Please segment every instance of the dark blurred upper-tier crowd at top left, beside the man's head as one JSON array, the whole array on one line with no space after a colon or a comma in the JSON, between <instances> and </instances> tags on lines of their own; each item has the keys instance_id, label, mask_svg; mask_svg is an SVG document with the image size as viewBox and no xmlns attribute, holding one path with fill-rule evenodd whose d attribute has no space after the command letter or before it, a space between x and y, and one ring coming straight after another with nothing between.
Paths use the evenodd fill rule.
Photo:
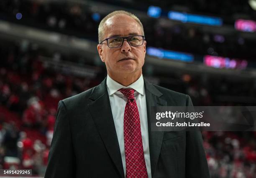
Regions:
<instances>
[{"instance_id":1,"label":"dark blurred upper-tier crowd at top left, beside the man's head","mask_svg":"<svg viewBox=\"0 0 256 178\"><path fill-rule=\"evenodd\" d=\"M20 20L17 20L17 13L22 14ZM100 14L92 14L87 6L69 1L0 1L0 18L3 20L95 40Z\"/></svg>"}]
</instances>

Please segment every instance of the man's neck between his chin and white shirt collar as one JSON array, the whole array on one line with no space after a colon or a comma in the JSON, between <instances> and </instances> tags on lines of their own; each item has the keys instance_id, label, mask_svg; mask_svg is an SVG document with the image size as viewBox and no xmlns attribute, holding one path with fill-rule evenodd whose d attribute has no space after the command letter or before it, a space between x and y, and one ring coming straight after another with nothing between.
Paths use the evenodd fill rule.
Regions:
<instances>
[{"instance_id":1,"label":"man's neck between his chin and white shirt collar","mask_svg":"<svg viewBox=\"0 0 256 178\"><path fill-rule=\"evenodd\" d=\"M123 86L129 86L133 84L138 78L140 78L142 74L142 71L136 74L110 74L108 75L111 77L111 79L115 80L119 84L122 84Z\"/></svg>"}]
</instances>

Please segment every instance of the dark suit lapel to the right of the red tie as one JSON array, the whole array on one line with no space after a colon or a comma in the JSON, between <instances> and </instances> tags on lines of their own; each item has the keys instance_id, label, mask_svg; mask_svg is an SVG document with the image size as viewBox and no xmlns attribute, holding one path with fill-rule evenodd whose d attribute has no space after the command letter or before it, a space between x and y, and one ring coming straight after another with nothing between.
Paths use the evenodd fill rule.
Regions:
<instances>
[{"instance_id":1,"label":"dark suit lapel to the right of the red tie","mask_svg":"<svg viewBox=\"0 0 256 178\"><path fill-rule=\"evenodd\" d=\"M146 105L148 115L148 141L150 152L151 175L154 176L156 164L159 158L164 132L151 132L151 106L166 106L166 101L160 97L163 95L152 84L144 79L146 91Z\"/></svg>"}]
</instances>

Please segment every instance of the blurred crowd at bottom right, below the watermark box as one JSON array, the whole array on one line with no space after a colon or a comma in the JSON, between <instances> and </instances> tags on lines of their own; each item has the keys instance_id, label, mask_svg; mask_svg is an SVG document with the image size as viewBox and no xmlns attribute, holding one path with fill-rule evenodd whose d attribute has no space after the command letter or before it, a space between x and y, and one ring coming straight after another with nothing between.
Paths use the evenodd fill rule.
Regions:
<instances>
[{"instance_id":1,"label":"blurred crowd at bottom right, below the watermark box","mask_svg":"<svg viewBox=\"0 0 256 178\"><path fill-rule=\"evenodd\" d=\"M256 132L202 132L211 178L256 178Z\"/></svg>"}]
</instances>

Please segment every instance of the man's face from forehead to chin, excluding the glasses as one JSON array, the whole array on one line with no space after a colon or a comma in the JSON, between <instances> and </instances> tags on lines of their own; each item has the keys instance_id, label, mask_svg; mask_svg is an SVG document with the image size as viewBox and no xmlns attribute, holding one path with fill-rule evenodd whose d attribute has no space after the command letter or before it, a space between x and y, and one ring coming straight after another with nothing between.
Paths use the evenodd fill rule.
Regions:
<instances>
[{"instance_id":1,"label":"man's face from forehead to chin, excluding the glasses","mask_svg":"<svg viewBox=\"0 0 256 178\"><path fill-rule=\"evenodd\" d=\"M105 22L103 39L113 36L142 35L140 25L128 15L115 15ZM125 74L140 74L146 54L146 41L141 46L130 46L125 40L119 48L109 48L107 41L97 45L100 58L112 77ZM122 60L128 58L126 60Z\"/></svg>"}]
</instances>

